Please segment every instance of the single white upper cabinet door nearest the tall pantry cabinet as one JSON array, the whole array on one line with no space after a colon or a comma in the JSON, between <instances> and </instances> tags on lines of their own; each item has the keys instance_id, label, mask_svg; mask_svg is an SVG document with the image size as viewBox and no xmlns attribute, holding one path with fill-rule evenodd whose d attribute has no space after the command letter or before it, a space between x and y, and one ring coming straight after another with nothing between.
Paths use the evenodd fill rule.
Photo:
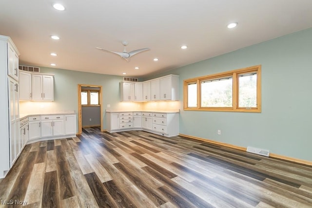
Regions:
<instances>
[{"instance_id":1,"label":"single white upper cabinet door nearest the tall pantry cabinet","mask_svg":"<svg viewBox=\"0 0 312 208\"><path fill-rule=\"evenodd\" d=\"M20 101L31 100L31 74L20 72Z\"/></svg>"}]
</instances>

